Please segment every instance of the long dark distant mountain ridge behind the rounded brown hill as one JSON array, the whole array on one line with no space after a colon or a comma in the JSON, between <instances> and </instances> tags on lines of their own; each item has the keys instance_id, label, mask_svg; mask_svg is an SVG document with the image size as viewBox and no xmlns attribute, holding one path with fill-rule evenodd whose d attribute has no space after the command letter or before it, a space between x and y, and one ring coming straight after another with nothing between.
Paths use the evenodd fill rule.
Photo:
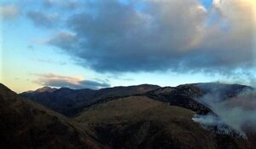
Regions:
<instances>
[{"instance_id":1,"label":"long dark distant mountain ridge behind the rounded brown hill","mask_svg":"<svg viewBox=\"0 0 256 149\"><path fill-rule=\"evenodd\" d=\"M218 89L220 88L220 89ZM234 90L233 90L234 89ZM195 100L205 94L222 92L224 99L239 94L244 89L253 89L246 85L224 83L188 83L177 87L160 87L151 84L120 86L106 89L56 89L54 92L31 92L20 95L37 101L56 112L72 117L90 105L119 99L130 95L147 95L148 97L169 102L174 106L183 106L198 113L211 112L206 106Z\"/></svg>"}]
</instances>

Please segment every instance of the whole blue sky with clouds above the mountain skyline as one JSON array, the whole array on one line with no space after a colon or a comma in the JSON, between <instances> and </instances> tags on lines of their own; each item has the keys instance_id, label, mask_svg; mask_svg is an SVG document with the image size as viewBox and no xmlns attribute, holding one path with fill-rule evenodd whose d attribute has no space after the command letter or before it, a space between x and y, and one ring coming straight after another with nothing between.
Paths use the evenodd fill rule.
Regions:
<instances>
[{"instance_id":1,"label":"whole blue sky with clouds above the mountain skyline","mask_svg":"<svg viewBox=\"0 0 256 149\"><path fill-rule=\"evenodd\" d=\"M0 82L256 83L254 0L2 0Z\"/></svg>"}]
</instances>

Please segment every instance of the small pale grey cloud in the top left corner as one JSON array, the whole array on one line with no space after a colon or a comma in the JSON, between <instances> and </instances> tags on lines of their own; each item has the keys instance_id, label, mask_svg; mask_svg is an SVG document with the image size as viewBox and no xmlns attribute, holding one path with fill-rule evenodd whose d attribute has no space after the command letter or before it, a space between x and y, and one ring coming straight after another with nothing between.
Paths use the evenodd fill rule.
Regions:
<instances>
[{"instance_id":1,"label":"small pale grey cloud in the top left corner","mask_svg":"<svg viewBox=\"0 0 256 149\"><path fill-rule=\"evenodd\" d=\"M19 15L19 9L15 5L0 6L0 19L11 20Z\"/></svg>"}]
</instances>

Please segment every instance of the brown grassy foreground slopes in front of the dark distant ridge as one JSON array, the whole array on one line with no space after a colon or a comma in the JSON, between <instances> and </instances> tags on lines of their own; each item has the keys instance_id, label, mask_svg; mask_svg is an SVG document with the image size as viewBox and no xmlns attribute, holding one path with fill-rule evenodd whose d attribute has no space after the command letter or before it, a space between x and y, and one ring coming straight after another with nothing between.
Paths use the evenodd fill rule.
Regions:
<instances>
[{"instance_id":1,"label":"brown grassy foreground slopes in front of the dark distant ridge","mask_svg":"<svg viewBox=\"0 0 256 149\"><path fill-rule=\"evenodd\" d=\"M202 129L191 120L194 114L131 96L90 106L72 120L0 83L0 148L248 148L242 140Z\"/></svg>"}]
</instances>

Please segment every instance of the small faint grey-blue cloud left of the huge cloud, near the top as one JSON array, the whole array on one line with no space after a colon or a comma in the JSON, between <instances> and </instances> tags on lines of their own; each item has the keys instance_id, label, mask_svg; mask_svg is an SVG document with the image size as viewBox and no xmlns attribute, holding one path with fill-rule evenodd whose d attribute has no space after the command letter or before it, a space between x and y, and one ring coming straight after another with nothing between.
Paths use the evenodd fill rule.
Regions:
<instances>
[{"instance_id":1,"label":"small faint grey-blue cloud left of the huge cloud, near the top","mask_svg":"<svg viewBox=\"0 0 256 149\"><path fill-rule=\"evenodd\" d=\"M26 16L32 20L35 26L54 27L58 25L58 14L46 14L38 10L31 10Z\"/></svg>"}]
</instances>

